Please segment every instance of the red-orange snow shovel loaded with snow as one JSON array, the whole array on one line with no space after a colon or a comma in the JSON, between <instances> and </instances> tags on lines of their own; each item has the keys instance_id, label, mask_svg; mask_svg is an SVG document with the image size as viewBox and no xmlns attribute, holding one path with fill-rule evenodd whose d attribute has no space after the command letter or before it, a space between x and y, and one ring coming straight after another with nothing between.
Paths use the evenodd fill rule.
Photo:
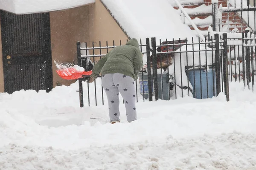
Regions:
<instances>
[{"instance_id":1,"label":"red-orange snow shovel loaded with snow","mask_svg":"<svg viewBox=\"0 0 256 170\"><path fill-rule=\"evenodd\" d=\"M79 79L81 77L90 77L90 75L93 73L93 71L82 71L81 69L77 69L75 67L69 67L69 68L61 68L56 70L57 74L62 79Z\"/></svg>"}]
</instances>

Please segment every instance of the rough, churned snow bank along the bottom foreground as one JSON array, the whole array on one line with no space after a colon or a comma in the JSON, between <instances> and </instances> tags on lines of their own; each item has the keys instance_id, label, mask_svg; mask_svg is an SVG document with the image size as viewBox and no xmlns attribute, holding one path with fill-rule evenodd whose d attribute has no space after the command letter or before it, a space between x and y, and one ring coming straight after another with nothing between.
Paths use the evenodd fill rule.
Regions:
<instances>
[{"instance_id":1,"label":"rough, churned snow bank along the bottom foreground","mask_svg":"<svg viewBox=\"0 0 256 170\"><path fill-rule=\"evenodd\" d=\"M29 170L253 170L255 140L254 135L234 132L179 140L167 136L157 143L145 141L69 151L9 144L2 149L0 164L6 169Z\"/></svg>"}]
</instances>

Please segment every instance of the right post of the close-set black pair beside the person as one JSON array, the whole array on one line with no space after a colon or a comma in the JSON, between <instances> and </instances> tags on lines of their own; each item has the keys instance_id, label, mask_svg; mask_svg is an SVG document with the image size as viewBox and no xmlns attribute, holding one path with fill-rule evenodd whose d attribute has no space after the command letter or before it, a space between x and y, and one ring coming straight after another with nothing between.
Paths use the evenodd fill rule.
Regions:
<instances>
[{"instance_id":1,"label":"right post of the close-set black pair beside the person","mask_svg":"<svg viewBox=\"0 0 256 170\"><path fill-rule=\"evenodd\" d=\"M158 85L157 85L157 45L156 38L151 38L151 47L152 47L152 67L153 67L153 79L154 79L154 96L155 100L159 99L158 97Z\"/></svg>"}]
</instances>

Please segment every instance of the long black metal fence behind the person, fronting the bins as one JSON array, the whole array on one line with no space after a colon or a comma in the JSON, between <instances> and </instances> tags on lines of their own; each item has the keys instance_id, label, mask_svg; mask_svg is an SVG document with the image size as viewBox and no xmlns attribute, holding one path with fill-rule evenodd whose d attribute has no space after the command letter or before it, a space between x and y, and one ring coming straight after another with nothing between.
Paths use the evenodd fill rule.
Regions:
<instances>
[{"instance_id":1,"label":"long black metal fence behind the person, fronting the bins","mask_svg":"<svg viewBox=\"0 0 256 170\"><path fill-rule=\"evenodd\" d=\"M139 79L135 81L137 102L146 99L153 101L153 96L154 100L184 96L204 99L218 96L220 92L224 92L229 100L227 34L223 34L223 37L215 34L204 42L199 38L159 41L146 38L140 39L139 43L144 65ZM85 71L90 70L89 58L95 64L96 60L116 46L114 41L111 46L109 42L105 42L105 45L102 42L95 44L86 43L81 47L80 42L77 42L78 65L83 66ZM122 45L121 41L119 45ZM84 80L86 78L79 79L80 107L84 106L86 92L88 106L92 100L98 105L99 98L104 105L104 91L99 78L90 84ZM87 91L84 91L83 82Z\"/></svg>"}]
</instances>

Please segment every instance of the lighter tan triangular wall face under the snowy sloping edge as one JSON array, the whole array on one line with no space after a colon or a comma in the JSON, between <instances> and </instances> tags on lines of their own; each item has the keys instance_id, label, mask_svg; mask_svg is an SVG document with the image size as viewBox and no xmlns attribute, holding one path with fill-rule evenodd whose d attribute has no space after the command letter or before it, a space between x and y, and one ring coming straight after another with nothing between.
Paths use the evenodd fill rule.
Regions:
<instances>
[{"instance_id":1,"label":"lighter tan triangular wall face under the snowy sloping edge","mask_svg":"<svg viewBox=\"0 0 256 170\"><path fill-rule=\"evenodd\" d=\"M96 0L95 4L93 4L90 23L92 23L90 25L90 30L92 30L90 34L90 46L92 45L92 41L95 46L99 46L99 41L101 41L101 46L106 46L106 41L108 41L109 46L112 46L113 40L115 41L115 45L120 45L120 40L122 44L125 44L128 39L100 0ZM102 50L102 54L104 53L106 51ZM92 54L92 51L90 51L90 54ZM99 54L99 50L96 50L95 54Z\"/></svg>"}]
</instances>

